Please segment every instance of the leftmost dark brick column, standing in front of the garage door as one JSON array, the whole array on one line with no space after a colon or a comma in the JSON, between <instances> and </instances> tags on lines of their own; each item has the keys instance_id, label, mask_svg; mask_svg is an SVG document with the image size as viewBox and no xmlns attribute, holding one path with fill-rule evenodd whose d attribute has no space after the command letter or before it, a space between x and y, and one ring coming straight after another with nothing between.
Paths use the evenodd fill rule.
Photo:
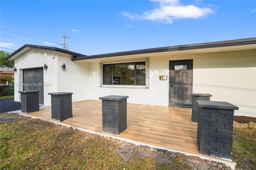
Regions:
<instances>
[{"instance_id":1,"label":"leftmost dark brick column, standing in front of the garage door","mask_svg":"<svg viewBox=\"0 0 256 170\"><path fill-rule=\"evenodd\" d=\"M21 111L24 113L39 111L39 91L18 91L21 96Z\"/></svg>"}]
</instances>

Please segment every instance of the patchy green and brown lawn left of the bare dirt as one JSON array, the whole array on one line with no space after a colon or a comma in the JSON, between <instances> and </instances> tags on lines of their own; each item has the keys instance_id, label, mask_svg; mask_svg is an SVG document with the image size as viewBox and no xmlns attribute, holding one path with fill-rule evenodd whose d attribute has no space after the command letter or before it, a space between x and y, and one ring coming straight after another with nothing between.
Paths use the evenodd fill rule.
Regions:
<instances>
[{"instance_id":1,"label":"patchy green and brown lawn left of the bare dirt","mask_svg":"<svg viewBox=\"0 0 256 170\"><path fill-rule=\"evenodd\" d=\"M172 164L132 152L117 154L120 141L39 119L24 118L0 125L0 170L5 169L185 169L184 158ZM180 160L179 160L180 159ZM169 162L170 162L169 161Z\"/></svg>"}]
</instances>

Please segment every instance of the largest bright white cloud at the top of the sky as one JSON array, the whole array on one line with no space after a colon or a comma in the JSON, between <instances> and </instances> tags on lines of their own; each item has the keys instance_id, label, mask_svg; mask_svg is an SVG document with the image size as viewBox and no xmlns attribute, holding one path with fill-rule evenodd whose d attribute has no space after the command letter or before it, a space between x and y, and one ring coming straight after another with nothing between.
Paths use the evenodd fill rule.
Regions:
<instances>
[{"instance_id":1,"label":"largest bright white cloud at the top of the sky","mask_svg":"<svg viewBox=\"0 0 256 170\"><path fill-rule=\"evenodd\" d=\"M151 0L159 3L159 8L154 8L144 12L142 15L121 12L122 15L130 19L151 20L153 22L163 22L172 24L175 19L201 18L214 11L210 8L199 8L194 5L182 5L179 0Z\"/></svg>"}]
</instances>

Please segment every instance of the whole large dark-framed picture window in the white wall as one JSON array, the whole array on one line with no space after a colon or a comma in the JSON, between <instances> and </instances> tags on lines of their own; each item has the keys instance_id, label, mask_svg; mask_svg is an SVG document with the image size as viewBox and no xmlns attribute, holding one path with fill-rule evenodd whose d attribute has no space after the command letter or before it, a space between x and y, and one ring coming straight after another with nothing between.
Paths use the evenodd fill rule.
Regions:
<instances>
[{"instance_id":1,"label":"whole large dark-framed picture window in the white wall","mask_svg":"<svg viewBox=\"0 0 256 170\"><path fill-rule=\"evenodd\" d=\"M146 85L146 63L103 65L103 85Z\"/></svg>"}]
</instances>

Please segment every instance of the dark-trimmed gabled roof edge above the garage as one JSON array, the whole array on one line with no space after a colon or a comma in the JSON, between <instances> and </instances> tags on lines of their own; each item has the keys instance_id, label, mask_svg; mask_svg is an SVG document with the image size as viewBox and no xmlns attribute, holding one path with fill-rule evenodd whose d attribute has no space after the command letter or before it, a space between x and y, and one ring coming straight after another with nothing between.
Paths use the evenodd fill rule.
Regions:
<instances>
[{"instance_id":1,"label":"dark-trimmed gabled roof edge above the garage","mask_svg":"<svg viewBox=\"0 0 256 170\"><path fill-rule=\"evenodd\" d=\"M57 48L57 47L48 47L48 46L42 46L42 45L25 44L22 47L20 47L19 49L17 49L16 51L14 51L11 55L6 57L6 60L14 61L14 59L16 59L20 55L26 53L30 49L42 49L42 50L56 51L56 52L72 55L73 58L86 56L86 55L82 55L80 53L75 53L75 52L72 52L72 51L67 51L67 50L64 50L64 49Z\"/></svg>"}]
</instances>

